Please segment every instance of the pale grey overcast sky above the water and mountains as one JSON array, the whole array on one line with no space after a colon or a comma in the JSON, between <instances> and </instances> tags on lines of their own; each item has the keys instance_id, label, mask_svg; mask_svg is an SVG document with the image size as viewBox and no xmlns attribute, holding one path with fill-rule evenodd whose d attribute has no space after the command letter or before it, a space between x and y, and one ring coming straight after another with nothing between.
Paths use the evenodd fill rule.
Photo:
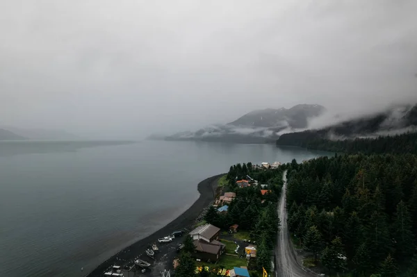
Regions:
<instances>
[{"instance_id":1,"label":"pale grey overcast sky above the water and mountains","mask_svg":"<svg viewBox=\"0 0 417 277\"><path fill-rule=\"evenodd\" d=\"M144 136L410 101L416 15L415 0L0 1L0 124Z\"/></svg>"}]
</instances>

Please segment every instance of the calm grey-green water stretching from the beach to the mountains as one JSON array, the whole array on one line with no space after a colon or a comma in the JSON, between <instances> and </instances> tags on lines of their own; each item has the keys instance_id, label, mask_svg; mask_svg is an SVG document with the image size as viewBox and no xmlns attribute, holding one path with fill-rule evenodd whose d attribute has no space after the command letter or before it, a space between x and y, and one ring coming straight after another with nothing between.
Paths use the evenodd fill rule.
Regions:
<instances>
[{"instance_id":1,"label":"calm grey-green water stretching from the beach to the mountains","mask_svg":"<svg viewBox=\"0 0 417 277\"><path fill-rule=\"evenodd\" d=\"M328 154L270 144L0 142L0 275L84 276L189 208L204 178L237 162Z\"/></svg>"}]
</instances>

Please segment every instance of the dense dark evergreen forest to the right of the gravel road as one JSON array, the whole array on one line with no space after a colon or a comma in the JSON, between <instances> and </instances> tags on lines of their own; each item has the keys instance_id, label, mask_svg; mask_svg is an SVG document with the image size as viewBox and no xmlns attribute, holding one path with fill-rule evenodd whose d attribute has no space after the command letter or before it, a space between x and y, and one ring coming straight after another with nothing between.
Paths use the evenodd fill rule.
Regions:
<instances>
[{"instance_id":1,"label":"dense dark evergreen forest to the right of the gravel road","mask_svg":"<svg viewBox=\"0 0 417 277\"><path fill-rule=\"evenodd\" d=\"M416 153L416 137L341 149ZM345 154L286 167L288 228L321 265L354 276L417 276L417 156Z\"/></svg>"}]
</instances>

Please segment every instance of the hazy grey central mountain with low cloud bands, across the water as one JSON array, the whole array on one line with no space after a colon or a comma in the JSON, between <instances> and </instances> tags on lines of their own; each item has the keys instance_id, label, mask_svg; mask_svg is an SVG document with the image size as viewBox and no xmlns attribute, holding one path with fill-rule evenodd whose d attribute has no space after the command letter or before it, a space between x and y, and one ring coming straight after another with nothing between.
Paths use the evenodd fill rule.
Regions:
<instances>
[{"instance_id":1,"label":"hazy grey central mountain with low cloud bands, across the water","mask_svg":"<svg viewBox=\"0 0 417 277\"><path fill-rule=\"evenodd\" d=\"M212 125L198 131L186 131L165 140L203 140L215 142L275 142L279 133L307 128L309 119L325 112L320 105L297 105L286 109L254 110L225 125Z\"/></svg>"}]
</instances>

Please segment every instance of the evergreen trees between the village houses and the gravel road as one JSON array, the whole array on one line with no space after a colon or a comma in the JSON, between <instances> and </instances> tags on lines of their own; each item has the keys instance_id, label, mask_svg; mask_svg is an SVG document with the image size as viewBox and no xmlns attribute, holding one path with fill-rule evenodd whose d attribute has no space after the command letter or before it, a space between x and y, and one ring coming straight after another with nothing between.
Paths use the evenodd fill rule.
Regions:
<instances>
[{"instance_id":1,"label":"evergreen trees between the village houses and the gravel road","mask_svg":"<svg viewBox=\"0 0 417 277\"><path fill-rule=\"evenodd\" d=\"M262 267L268 272L271 269L270 256L275 247L277 231L279 230L279 217L277 214L277 202L282 189L281 169L253 169L252 164L234 165L227 174L227 187L224 192L236 192L236 199L229 205L225 214L220 214L211 206L204 219L214 226L229 230L232 224L238 224L239 230L250 232L252 240L256 241L256 263L250 263L248 269L261 270ZM268 185L269 193L262 195L260 185L238 187L236 180L251 178Z\"/></svg>"}]
</instances>

